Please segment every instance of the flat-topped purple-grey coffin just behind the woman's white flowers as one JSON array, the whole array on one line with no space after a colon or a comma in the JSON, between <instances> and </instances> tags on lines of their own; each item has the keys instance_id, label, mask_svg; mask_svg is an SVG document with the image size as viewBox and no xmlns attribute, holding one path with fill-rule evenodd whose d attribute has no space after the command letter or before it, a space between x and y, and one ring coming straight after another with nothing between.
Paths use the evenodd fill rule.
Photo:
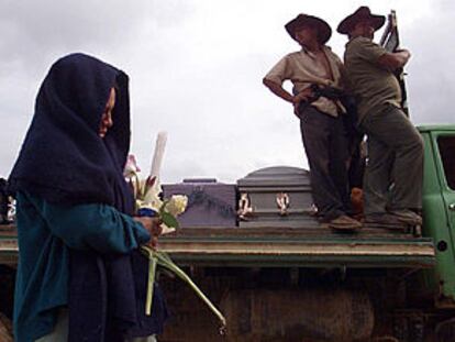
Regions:
<instances>
[{"instance_id":1,"label":"flat-topped purple-grey coffin just behind the woman's white flowers","mask_svg":"<svg viewBox=\"0 0 455 342\"><path fill-rule=\"evenodd\" d=\"M188 196L187 210L177 219L181 228L235 228L236 187L217 179L184 179L182 183L163 185L165 198Z\"/></svg>"}]
</instances>

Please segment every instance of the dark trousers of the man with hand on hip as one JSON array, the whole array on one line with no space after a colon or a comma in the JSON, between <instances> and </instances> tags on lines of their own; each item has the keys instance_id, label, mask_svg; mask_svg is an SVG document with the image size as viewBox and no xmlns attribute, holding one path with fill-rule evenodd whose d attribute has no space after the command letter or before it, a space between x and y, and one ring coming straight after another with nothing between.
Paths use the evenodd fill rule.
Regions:
<instances>
[{"instance_id":1,"label":"dark trousers of the man with hand on hip","mask_svg":"<svg viewBox=\"0 0 455 342\"><path fill-rule=\"evenodd\" d=\"M310 166L312 196L323 221L351 211L348 140L343 118L312 106L300 110L303 147Z\"/></svg>"}]
</instances>

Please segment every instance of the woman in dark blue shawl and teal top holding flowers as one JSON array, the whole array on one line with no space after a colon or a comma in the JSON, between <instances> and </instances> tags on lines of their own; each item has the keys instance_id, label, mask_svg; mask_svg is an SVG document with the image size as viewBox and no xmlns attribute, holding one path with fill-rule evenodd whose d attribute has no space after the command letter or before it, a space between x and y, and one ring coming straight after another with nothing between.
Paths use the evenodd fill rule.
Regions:
<instances>
[{"instance_id":1,"label":"woman in dark blue shawl and teal top holding flowers","mask_svg":"<svg viewBox=\"0 0 455 342\"><path fill-rule=\"evenodd\" d=\"M124 342L162 332L163 295L155 285L146 317L147 261L137 252L158 223L132 218L122 175L129 147L127 76L84 54L57 60L9 179L20 247L15 341Z\"/></svg>"}]
</instances>

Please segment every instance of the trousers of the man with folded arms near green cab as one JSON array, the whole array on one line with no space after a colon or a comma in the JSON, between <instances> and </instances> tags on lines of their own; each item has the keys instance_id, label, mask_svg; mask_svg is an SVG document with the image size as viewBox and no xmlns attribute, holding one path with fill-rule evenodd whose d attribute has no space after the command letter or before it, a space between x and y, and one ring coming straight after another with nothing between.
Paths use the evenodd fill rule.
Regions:
<instances>
[{"instance_id":1,"label":"trousers of the man with folded arms near green cab","mask_svg":"<svg viewBox=\"0 0 455 342\"><path fill-rule=\"evenodd\" d=\"M420 209L423 140L419 131L399 108L391 104L368 113L360 122L360 129L368 136L365 214Z\"/></svg>"}]
</instances>

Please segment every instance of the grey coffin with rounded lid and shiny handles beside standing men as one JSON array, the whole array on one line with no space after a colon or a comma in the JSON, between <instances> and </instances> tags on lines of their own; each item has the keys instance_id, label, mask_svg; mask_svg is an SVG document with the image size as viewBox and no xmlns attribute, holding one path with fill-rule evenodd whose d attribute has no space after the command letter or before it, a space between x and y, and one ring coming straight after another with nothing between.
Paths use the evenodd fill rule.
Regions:
<instances>
[{"instance_id":1,"label":"grey coffin with rounded lid and shiny handles beside standing men","mask_svg":"<svg viewBox=\"0 0 455 342\"><path fill-rule=\"evenodd\" d=\"M237 180L241 228L318 227L309 172L275 166Z\"/></svg>"}]
</instances>

